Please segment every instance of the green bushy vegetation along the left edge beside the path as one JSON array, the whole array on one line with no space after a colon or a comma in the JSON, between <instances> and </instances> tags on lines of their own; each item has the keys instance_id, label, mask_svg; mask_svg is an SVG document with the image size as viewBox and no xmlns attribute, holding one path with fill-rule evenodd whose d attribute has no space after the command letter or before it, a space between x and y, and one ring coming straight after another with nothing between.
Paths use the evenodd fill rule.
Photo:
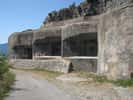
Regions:
<instances>
[{"instance_id":1,"label":"green bushy vegetation along the left edge beside the path","mask_svg":"<svg viewBox=\"0 0 133 100\"><path fill-rule=\"evenodd\" d=\"M14 80L15 75L9 71L9 65L6 59L0 57L0 100L3 100L7 95Z\"/></svg>"}]
</instances>

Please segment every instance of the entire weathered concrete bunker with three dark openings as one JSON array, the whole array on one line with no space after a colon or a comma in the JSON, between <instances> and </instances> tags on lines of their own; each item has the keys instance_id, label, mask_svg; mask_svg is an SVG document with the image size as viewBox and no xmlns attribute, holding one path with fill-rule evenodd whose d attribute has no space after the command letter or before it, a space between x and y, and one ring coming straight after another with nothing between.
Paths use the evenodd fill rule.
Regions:
<instances>
[{"instance_id":1,"label":"entire weathered concrete bunker with three dark openings","mask_svg":"<svg viewBox=\"0 0 133 100\"><path fill-rule=\"evenodd\" d=\"M100 1L103 11L97 16L48 22L38 30L13 34L9 38L10 56L20 59L13 64L30 67L32 63L32 67L64 72L71 62L74 70L97 72L110 79L133 77L133 1ZM31 55L28 65L23 59Z\"/></svg>"}]
</instances>

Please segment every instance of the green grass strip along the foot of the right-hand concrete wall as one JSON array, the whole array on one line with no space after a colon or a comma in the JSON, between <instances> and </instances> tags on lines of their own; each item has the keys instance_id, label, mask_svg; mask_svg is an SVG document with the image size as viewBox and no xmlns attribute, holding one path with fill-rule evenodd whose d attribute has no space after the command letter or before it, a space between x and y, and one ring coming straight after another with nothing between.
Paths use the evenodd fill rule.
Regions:
<instances>
[{"instance_id":1,"label":"green grass strip along the foot of the right-hand concrete wall","mask_svg":"<svg viewBox=\"0 0 133 100\"><path fill-rule=\"evenodd\" d=\"M122 87L133 87L133 79L127 79L127 80L108 80L106 76L99 76L93 73L88 73L88 72L79 72L78 73L79 77L84 77L84 78L92 78L94 82L98 83L111 83L116 86L122 86Z\"/></svg>"}]
</instances>

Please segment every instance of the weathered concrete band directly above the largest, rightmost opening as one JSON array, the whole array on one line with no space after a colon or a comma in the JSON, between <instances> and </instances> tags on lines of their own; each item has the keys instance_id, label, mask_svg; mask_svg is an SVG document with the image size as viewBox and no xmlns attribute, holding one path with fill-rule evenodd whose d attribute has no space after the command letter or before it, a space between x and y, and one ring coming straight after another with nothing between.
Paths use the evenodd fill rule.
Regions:
<instances>
[{"instance_id":1,"label":"weathered concrete band directly above the largest, rightmost opening","mask_svg":"<svg viewBox=\"0 0 133 100\"><path fill-rule=\"evenodd\" d=\"M62 28L62 39L65 40L72 36L84 33L97 33L98 16L94 16L91 20L82 20L82 22L66 24Z\"/></svg>"}]
</instances>

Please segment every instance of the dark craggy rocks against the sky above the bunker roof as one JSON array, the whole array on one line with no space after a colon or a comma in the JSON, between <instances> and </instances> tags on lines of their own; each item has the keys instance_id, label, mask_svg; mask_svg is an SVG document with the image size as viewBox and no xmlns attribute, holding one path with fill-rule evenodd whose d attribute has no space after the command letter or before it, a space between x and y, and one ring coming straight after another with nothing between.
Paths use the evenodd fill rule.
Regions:
<instances>
[{"instance_id":1,"label":"dark craggy rocks against the sky above the bunker roof","mask_svg":"<svg viewBox=\"0 0 133 100\"><path fill-rule=\"evenodd\" d=\"M73 3L68 8L64 8L59 11L53 11L49 13L44 21L44 24L53 21L73 19L81 16L97 15L99 13L98 7L98 0L85 0L79 6L76 6L75 3Z\"/></svg>"}]
</instances>

